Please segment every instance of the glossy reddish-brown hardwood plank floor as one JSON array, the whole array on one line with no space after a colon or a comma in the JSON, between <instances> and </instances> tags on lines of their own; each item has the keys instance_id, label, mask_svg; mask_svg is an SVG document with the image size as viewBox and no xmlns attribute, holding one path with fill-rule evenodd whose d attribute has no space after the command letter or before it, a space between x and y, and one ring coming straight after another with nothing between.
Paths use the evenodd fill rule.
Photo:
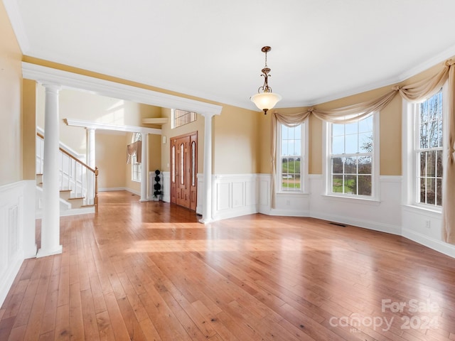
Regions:
<instances>
[{"instance_id":1,"label":"glossy reddish-brown hardwood plank floor","mask_svg":"<svg viewBox=\"0 0 455 341\"><path fill-rule=\"evenodd\" d=\"M0 340L455 340L455 259L322 220L100 193L63 254L24 261ZM39 231L39 222L38 222Z\"/></svg>"}]
</instances>

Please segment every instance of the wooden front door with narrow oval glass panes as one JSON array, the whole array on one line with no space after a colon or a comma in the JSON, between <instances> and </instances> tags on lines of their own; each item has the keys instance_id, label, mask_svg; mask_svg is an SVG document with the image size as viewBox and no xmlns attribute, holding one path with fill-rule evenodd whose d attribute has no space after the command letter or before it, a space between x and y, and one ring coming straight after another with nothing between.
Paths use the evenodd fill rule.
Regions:
<instances>
[{"instance_id":1,"label":"wooden front door with narrow oval glass panes","mask_svg":"<svg viewBox=\"0 0 455 341\"><path fill-rule=\"evenodd\" d=\"M198 133L171 138L171 202L196 210Z\"/></svg>"}]
</instances>

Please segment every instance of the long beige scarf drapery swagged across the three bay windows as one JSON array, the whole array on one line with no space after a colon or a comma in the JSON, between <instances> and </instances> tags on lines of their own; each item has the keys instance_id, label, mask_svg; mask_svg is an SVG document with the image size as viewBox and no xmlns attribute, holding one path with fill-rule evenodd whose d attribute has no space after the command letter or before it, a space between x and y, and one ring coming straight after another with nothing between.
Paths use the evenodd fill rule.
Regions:
<instances>
[{"instance_id":1,"label":"long beige scarf drapery swagged across the three bay windows","mask_svg":"<svg viewBox=\"0 0 455 341\"><path fill-rule=\"evenodd\" d=\"M277 174L277 122L287 126L296 126L313 114L315 117L332 123L350 123L362 119L370 112L380 112L392 99L400 94L409 102L422 102L437 93L448 81L449 95L444 99L448 103L448 118L444 135L444 177L442 193L442 225L445 242L455 244L455 67L454 60L446 60L444 67L436 75L410 85L397 85L390 92L367 102L352 104L337 109L320 110L314 107L295 114L272 114L272 207L275 207L275 176Z\"/></svg>"}]
</instances>

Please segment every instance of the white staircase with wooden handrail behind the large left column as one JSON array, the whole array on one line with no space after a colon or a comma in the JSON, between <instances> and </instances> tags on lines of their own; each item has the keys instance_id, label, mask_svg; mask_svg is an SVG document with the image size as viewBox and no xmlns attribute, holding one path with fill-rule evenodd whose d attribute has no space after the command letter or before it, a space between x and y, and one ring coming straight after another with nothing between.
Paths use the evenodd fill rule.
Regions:
<instances>
[{"instance_id":1,"label":"white staircase with wooden handrail behind the large left column","mask_svg":"<svg viewBox=\"0 0 455 341\"><path fill-rule=\"evenodd\" d=\"M39 129L38 129L39 130ZM36 134L36 217L42 217L44 136ZM98 168L90 168L68 147L60 144L58 153L60 183L60 215L97 212Z\"/></svg>"}]
</instances>

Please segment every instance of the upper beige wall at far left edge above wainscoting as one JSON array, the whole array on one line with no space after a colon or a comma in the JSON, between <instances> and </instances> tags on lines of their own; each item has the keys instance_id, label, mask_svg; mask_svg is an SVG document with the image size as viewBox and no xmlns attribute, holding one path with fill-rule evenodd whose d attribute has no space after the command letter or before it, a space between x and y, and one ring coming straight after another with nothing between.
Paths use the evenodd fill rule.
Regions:
<instances>
[{"instance_id":1,"label":"upper beige wall at far left edge above wainscoting","mask_svg":"<svg viewBox=\"0 0 455 341\"><path fill-rule=\"evenodd\" d=\"M22 180L22 53L0 2L0 185Z\"/></svg>"}]
</instances>

